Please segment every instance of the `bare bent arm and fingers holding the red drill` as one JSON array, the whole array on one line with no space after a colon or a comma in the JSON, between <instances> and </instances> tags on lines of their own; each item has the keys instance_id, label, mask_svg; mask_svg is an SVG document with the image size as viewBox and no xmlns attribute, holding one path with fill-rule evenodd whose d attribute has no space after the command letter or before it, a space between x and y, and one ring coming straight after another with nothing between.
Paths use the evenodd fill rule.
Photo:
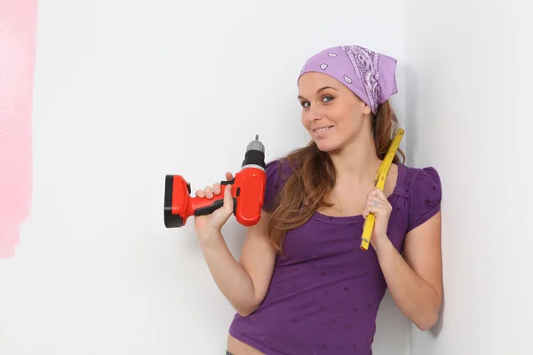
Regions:
<instances>
[{"instance_id":1,"label":"bare bent arm and fingers holding the red drill","mask_svg":"<svg viewBox=\"0 0 533 355\"><path fill-rule=\"evenodd\" d=\"M219 185L213 186L214 193L219 193ZM205 192L212 196L211 189ZM202 195L202 193L200 193ZM233 206L229 191L225 207L227 215L231 215ZM219 211L223 213L223 211ZM227 216L229 217L229 216ZM195 217L196 218L196 217ZM267 236L267 224L270 215L261 210L261 218L257 225L248 227L240 261L235 260L222 233L221 227L205 227L197 229L197 237L203 251L211 276L220 291L233 305L235 311L243 317L254 312L267 295L267 289L274 272L276 252ZM226 222L226 216L221 219Z\"/></svg>"}]
</instances>

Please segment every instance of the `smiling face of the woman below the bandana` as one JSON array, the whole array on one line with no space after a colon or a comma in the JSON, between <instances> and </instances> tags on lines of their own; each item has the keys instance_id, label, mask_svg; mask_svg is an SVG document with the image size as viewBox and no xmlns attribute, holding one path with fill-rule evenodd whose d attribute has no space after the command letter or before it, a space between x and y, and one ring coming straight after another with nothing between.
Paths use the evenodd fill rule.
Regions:
<instances>
[{"instance_id":1,"label":"smiling face of the woman below the bandana","mask_svg":"<svg viewBox=\"0 0 533 355\"><path fill-rule=\"evenodd\" d=\"M306 73L298 82L302 123L318 148L336 151L362 131L370 107L338 80L322 73Z\"/></svg>"}]
</instances>

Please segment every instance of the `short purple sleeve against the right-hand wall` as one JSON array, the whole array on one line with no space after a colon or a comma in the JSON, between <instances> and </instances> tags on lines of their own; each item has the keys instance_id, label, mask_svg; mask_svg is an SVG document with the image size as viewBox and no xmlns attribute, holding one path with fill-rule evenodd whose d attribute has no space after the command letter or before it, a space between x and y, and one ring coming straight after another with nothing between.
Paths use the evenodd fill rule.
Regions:
<instances>
[{"instance_id":1,"label":"short purple sleeve against the right-hand wall","mask_svg":"<svg viewBox=\"0 0 533 355\"><path fill-rule=\"evenodd\" d=\"M441 210L442 185L437 170L433 167L419 169L411 181L409 196L408 232Z\"/></svg>"}]
</instances>

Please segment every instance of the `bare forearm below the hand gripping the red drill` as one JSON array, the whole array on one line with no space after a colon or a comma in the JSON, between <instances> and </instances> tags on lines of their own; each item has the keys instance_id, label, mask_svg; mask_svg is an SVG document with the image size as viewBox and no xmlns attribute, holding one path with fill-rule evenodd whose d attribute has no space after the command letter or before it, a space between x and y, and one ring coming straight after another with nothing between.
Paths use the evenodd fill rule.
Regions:
<instances>
[{"instance_id":1,"label":"bare forearm below the hand gripping the red drill","mask_svg":"<svg viewBox=\"0 0 533 355\"><path fill-rule=\"evenodd\" d=\"M255 292L250 275L227 248L221 233L210 232L199 236L205 262L220 292L242 315L251 313L255 307Z\"/></svg>"}]
</instances>

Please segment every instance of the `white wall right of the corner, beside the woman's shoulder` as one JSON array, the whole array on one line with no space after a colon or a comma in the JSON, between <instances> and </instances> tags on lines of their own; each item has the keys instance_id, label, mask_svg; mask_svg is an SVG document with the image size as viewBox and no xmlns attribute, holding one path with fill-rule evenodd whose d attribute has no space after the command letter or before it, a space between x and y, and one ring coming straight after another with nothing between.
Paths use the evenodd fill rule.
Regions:
<instances>
[{"instance_id":1,"label":"white wall right of the corner, beside the woman's shoulder","mask_svg":"<svg viewBox=\"0 0 533 355\"><path fill-rule=\"evenodd\" d=\"M406 2L410 162L443 181L444 312L411 355L533 353L527 3Z\"/></svg>"}]
</instances>

